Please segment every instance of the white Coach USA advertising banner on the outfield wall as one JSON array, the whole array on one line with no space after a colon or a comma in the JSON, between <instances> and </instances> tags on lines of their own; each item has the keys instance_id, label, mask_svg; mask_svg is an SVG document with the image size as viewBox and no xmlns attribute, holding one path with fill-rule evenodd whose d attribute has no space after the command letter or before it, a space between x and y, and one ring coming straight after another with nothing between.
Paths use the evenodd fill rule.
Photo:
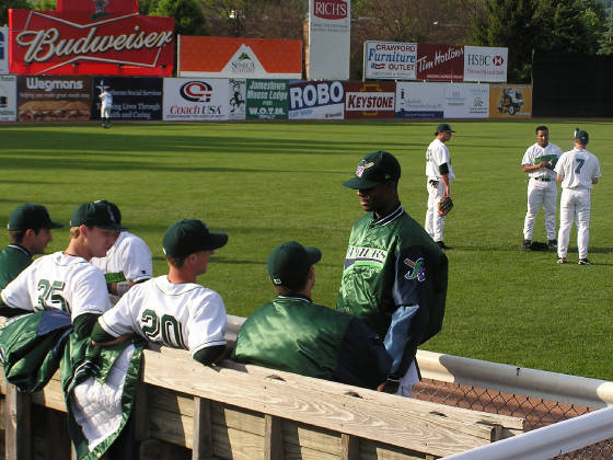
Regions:
<instances>
[{"instance_id":1,"label":"white Coach USA advertising banner on the outfield wall","mask_svg":"<svg viewBox=\"0 0 613 460\"><path fill-rule=\"evenodd\" d=\"M163 119L230 119L230 101L235 97L234 88L231 88L228 79L165 78Z\"/></svg>"}]
</instances>

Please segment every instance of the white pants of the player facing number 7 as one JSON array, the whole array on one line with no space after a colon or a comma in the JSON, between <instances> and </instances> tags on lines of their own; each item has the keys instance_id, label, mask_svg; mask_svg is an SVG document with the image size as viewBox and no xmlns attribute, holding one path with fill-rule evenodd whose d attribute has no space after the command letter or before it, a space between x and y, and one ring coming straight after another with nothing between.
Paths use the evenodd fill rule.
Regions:
<instances>
[{"instance_id":1,"label":"white pants of the player facing number 7","mask_svg":"<svg viewBox=\"0 0 613 460\"><path fill-rule=\"evenodd\" d=\"M557 203L557 187L555 181L543 182L530 179L528 183L528 211L523 221L523 239L532 240L534 221L539 215L539 208L543 205L545 212L545 232L548 240L555 240L555 214Z\"/></svg>"}]
</instances>

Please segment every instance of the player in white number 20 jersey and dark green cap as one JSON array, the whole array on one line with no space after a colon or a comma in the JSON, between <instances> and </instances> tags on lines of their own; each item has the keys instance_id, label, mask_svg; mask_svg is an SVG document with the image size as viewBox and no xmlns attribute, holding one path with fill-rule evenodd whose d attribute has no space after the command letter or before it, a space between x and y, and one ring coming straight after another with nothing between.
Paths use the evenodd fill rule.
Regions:
<instances>
[{"instance_id":1,"label":"player in white number 20 jersey and dark green cap","mask_svg":"<svg viewBox=\"0 0 613 460\"><path fill-rule=\"evenodd\" d=\"M205 365L215 361L225 347L225 307L221 296L197 284L196 277L227 242L225 233L209 231L200 220L173 223L162 241L169 274L134 286L100 317L92 341L104 346L139 334L189 349Z\"/></svg>"}]
</instances>

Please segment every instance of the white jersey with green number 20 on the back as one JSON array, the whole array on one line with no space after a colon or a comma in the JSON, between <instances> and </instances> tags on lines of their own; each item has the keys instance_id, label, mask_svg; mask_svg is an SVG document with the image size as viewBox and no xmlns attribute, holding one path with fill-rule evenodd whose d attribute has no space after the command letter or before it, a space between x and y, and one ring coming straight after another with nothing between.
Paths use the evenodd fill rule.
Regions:
<instances>
[{"instance_id":1,"label":"white jersey with green number 20 on the back","mask_svg":"<svg viewBox=\"0 0 613 460\"><path fill-rule=\"evenodd\" d=\"M172 284L166 275L132 286L99 318L108 334L137 333L151 342L189 349L225 345L221 296L198 284Z\"/></svg>"}]
</instances>

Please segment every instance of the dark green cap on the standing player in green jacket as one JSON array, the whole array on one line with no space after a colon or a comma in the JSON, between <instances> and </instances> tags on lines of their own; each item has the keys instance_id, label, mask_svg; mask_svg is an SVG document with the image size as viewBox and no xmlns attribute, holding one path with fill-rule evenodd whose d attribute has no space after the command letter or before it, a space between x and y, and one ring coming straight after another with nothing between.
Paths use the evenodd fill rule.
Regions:
<instances>
[{"instance_id":1,"label":"dark green cap on the standing player in green jacket","mask_svg":"<svg viewBox=\"0 0 613 460\"><path fill-rule=\"evenodd\" d=\"M367 154L358 163L356 175L343 185L349 188L372 188L385 181L401 179L401 163L390 152L379 150Z\"/></svg>"}]
</instances>

